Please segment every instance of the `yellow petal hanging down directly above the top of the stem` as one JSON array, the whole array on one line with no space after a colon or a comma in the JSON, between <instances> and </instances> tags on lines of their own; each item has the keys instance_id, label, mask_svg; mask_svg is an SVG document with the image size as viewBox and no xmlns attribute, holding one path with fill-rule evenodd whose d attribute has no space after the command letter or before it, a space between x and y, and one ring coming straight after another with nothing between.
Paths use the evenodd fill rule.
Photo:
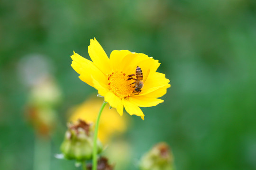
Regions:
<instances>
[{"instance_id":1,"label":"yellow petal hanging down directly above the top of the stem","mask_svg":"<svg viewBox=\"0 0 256 170\"><path fill-rule=\"evenodd\" d=\"M110 106L116 108L119 115L123 115L124 105L119 97L117 97L112 92L105 94L105 101L110 103Z\"/></svg>"}]
</instances>

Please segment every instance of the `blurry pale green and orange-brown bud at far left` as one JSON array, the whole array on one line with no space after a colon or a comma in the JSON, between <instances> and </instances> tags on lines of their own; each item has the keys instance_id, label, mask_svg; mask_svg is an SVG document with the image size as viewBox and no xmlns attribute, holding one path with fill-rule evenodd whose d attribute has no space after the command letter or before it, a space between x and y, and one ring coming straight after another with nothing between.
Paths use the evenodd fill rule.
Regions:
<instances>
[{"instance_id":1,"label":"blurry pale green and orange-brown bud at far left","mask_svg":"<svg viewBox=\"0 0 256 170\"><path fill-rule=\"evenodd\" d=\"M37 135L49 137L55 129L55 106L61 99L61 92L50 76L37 78L31 86L25 107L25 117L34 127Z\"/></svg>"}]
</instances>

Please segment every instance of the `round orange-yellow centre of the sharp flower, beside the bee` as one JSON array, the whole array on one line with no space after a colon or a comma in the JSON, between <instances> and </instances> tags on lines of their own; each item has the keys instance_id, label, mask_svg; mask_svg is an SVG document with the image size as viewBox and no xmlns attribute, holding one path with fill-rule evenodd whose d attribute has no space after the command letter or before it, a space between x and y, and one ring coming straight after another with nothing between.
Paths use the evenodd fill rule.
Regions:
<instances>
[{"instance_id":1,"label":"round orange-yellow centre of the sharp flower, beside the bee","mask_svg":"<svg viewBox=\"0 0 256 170\"><path fill-rule=\"evenodd\" d=\"M134 90L131 85L134 80L127 79L127 75L123 72L112 73L108 76L110 90L121 99L130 97Z\"/></svg>"}]
</instances>

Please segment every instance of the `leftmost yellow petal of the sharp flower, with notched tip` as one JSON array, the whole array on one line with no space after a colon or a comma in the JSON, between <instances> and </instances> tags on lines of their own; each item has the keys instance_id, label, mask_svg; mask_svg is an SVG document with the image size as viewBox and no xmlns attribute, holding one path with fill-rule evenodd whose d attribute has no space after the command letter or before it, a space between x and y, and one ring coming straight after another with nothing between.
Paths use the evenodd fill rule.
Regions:
<instances>
[{"instance_id":1,"label":"leftmost yellow petal of the sharp flower, with notched tip","mask_svg":"<svg viewBox=\"0 0 256 170\"><path fill-rule=\"evenodd\" d=\"M74 52L74 51L73 51ZM101 82L105 84L107 82L107 76L105 76L95 65L88 59L83 58L79 54L75 53L71 55L72 61L72 68L80 74L79 78L87 83L88 85L93 86L91 75Z\"/></svg>"}]
</instances>

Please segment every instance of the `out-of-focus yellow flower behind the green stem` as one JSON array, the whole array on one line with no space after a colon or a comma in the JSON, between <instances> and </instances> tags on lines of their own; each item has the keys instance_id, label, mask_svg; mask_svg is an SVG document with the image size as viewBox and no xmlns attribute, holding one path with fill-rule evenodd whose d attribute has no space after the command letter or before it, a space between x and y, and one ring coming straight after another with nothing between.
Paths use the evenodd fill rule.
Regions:
<instances>
[{"instance_id":1,"label":"out-of-focus yellow flower behind the green stem","mask_svg":"<svg viewBox=\"0 0 256 170\"><path fill-rule=\"evenodd\" d=\"M75 107L69 120L75 122L82 119L95 124L101 104L101 100L91 98ZM101 115L102 119L99 125L98 137L103 143L106 143L113 134L122 133L127 128L125 118L120 117L116 110L109 107L110 105L107 104L107 107L104 108L104 114Z\"/></svg>"}]
</instances>

